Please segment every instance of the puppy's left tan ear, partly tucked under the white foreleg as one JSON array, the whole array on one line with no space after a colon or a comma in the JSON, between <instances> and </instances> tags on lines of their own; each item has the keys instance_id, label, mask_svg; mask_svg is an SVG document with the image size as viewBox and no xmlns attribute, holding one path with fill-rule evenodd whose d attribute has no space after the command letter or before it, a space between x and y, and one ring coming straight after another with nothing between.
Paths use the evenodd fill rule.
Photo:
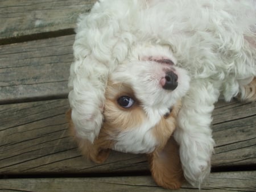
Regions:
<instances>
[{"instance_id":1,"label":"puppy's left tan ear, partly tucked under the white foreleg","mask_svg":"<svg viewBox=\"0 0 256 192\"><path fill-rule=\"evenodd\" d=\"M69 123L69 130L71 132L71 136L75 139L77 145L79 146L79 149L82 153L87 158L90 158L90 160L97 162L97 163L102 163L104 162L110 153L110 149L105 148L108 146L108 144L102 138L99 136L97 139L94 140L93 143L91 143L87 139L82 139L76 135L76 130L73 125L72 119L71 119L71 109L67 111L66 117L68 119Z\"/></svg>"}]
</instances>

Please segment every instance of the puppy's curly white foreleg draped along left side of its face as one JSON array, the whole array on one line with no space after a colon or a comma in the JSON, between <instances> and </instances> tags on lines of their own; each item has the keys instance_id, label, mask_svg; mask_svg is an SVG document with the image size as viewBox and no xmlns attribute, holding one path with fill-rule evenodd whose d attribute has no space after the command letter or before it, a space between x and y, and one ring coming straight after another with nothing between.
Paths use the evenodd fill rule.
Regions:
<instances>
[{"instance_id":1,"label":"puppy's curly white foreleg draped along left side of its face","mask_svg":"<svg viewBox=\"0 0 256 192\"><path fill-rule=\"evenodd\" d=\"M113 24L113 20L118 20L120 11L113 9L117 15L110 15L105 6L104 1L98 1L89 14L82 14L78 19L73 44L74 62L68 81L68 99L76 135L90 143L98 137L104 120L102 112L108 75L126 59L128 48L133 43L132 39L130 42L119 38L127 31ZM99 41L95 34L104 41Z\"/></svg>"}]
</instances>

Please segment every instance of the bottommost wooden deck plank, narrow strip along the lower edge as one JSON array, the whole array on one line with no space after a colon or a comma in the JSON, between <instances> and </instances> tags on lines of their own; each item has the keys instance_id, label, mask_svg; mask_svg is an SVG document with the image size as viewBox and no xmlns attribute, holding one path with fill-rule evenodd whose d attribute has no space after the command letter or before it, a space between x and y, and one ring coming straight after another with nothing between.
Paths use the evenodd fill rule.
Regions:
<instances>
[{"instance_id":1,"label":"bottommost wooden deck plank, narrow strip along the lower edge","mask_svg":"<svg viewBox=\"0 0 256 192\"><path fill-rule=\"evenodd\" d=\"M256 191L255 178L255 171L212 173L200 191ZM5 179L0 186L5 191L168 191L150 176ZM184 184L179 191L199 190Z\"/></svg>"}]
</instances>

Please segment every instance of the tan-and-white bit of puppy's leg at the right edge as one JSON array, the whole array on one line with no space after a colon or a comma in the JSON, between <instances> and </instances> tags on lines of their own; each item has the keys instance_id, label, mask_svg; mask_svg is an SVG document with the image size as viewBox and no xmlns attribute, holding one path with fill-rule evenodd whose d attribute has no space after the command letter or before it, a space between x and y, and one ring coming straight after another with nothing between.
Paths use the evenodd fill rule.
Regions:
<instances>
[{"instance_id":1,"label":"tan-and-white bit of puppy's leg at the right edge","mask_svg":"<svg viewBox=\"0 0 256 192\"><path fill-rule=\"evenodd\" d=\"M246 102L256 101L256 77L249 84L240 85L240 93L237 98Z\"/></svg>"}]
</instances>

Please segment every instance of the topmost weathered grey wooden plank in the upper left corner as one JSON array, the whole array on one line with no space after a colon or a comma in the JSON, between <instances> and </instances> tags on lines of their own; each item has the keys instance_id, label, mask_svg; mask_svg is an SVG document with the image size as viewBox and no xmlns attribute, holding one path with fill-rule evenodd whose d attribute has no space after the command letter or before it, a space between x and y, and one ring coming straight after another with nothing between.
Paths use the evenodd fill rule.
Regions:
<instances>
[{"instance_id":1,"label":"topmost weathered grey wooden plank in the upper left corner","mask_svg":"<svg viewBox=\"0 0 256 192\"><path fill-rule=\"evenodd\" d=\"M2 0L0 39L76 26L77 17L88 12L96 0Z\"/></svg>"}]
</instances>

